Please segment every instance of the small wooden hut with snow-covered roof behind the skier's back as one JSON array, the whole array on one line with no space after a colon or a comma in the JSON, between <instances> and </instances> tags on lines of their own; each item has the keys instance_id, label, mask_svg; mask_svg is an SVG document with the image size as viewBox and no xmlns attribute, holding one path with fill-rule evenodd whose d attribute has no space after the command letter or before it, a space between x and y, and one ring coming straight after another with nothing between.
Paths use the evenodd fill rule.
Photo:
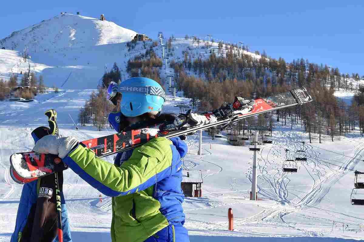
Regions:
<instances>
[{"instance_id":1,"label":"small wooden hut with snow-covered roof behind the skier's back","mask_svg":"<svg viewBox=\"0 0 364 242\"><path fill-rule=\"evenodd\" d=\"M201 170L183 170L181 188L186 197L202 197Z\"/></svg>"}]
</instances>

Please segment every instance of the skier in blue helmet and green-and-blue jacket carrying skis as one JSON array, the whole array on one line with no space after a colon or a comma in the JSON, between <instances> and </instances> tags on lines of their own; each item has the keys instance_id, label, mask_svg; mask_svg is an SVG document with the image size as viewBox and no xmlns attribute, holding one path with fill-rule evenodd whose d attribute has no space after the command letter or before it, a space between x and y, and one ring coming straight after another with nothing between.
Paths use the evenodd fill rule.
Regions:
<instances>
[{"instance_id":1,"label":"skier in blue helmet and green-and-blue jacket carrying skis","mask_svg":"<svg viewBox=\"0 0 364 242\"><path fill-rule=\"evenodd\" d=\"M108 120L117 132L174 120L161 114L165 91L149 78L111 82L107 100L115 106ZM34 151L57 154L82 179L112 197L113 242L189 242L181 189L187 145L180 138L151 139L118 153L111 164L71 136L46 137Z\"/></svg>"}]
</instances>

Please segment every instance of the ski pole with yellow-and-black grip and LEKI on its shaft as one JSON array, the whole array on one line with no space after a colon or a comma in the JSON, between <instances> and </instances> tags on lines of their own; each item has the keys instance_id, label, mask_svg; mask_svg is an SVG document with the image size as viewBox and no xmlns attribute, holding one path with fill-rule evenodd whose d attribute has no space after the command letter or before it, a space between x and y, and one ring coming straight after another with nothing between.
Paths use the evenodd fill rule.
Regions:
<instances>
[{"instance_id":1,"label":"ski pole with yellow-and-black grip and LEKI on its shaft","mask_svg":"<svg viewBox=\"0 0 364 242\"><path fill-rule=\"evenodd\" d=\"M44 113L48 117L49 127L51 129L51 135L59 135L59 129L57 124L57 112L54 109L47 110ZM57 227L58 227L58 241L63 242L63 230L62 230L62 209L61 209L61 188L58 182L58 172L54 173L54 182L56 186L56 213L57 213Z\"/></svg>"}]
</instances>

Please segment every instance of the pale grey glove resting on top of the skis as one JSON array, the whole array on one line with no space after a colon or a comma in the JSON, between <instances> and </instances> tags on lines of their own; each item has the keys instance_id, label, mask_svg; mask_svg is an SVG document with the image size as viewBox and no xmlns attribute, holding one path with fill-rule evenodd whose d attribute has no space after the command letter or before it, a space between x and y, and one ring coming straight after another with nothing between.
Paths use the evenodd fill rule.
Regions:
<instances>
[{"instance_id":1,"label":"pale grey glove resting on top of the skis","mask_svg":"<svg viewBox=\"0 0 364 242\"><path fill-rule=\"evenodd\" d=\"M33 151L43 154L58 155L59 158L63 159L70 153L76 144L78 144L78 140L72 136L61 137L57 135L46 135L37 141Z\"/></svg>"}]
</instances>

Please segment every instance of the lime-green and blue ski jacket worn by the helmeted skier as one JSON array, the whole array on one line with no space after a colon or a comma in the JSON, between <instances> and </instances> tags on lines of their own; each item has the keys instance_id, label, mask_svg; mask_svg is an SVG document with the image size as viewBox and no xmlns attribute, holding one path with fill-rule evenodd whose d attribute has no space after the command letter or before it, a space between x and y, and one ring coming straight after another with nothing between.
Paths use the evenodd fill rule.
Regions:
<instances>
[{"instance_id":1,"label":"lime-green and blue ski jacket worn by the helmeted skier","mask_svg":"<svg viewBox=\"0 0 364 242\"><path fill-rule=\"evenodd\" d=\"M113 242L143 242L158 237L157 232L166 227L173 229L169 241L187 242L187 231L178 240L174 234L174 227L183 228L185 222L181 157L186 153L187 145L178 137L158 137L119 153L116 164L96 157L82 144L63 162L91 186L112 197Z\"/></svg>"}]
</instances>

